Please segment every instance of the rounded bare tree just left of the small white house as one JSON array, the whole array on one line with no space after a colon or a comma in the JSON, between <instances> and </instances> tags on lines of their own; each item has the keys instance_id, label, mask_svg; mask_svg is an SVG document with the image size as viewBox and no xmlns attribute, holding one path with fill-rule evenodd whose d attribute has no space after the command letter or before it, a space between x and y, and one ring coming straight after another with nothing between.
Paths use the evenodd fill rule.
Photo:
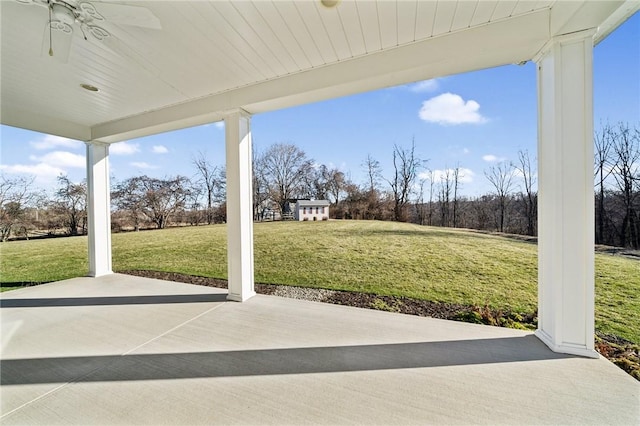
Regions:
<instances>
[{"instance_id":1,"label":"rounded bare tree just left of the small white house","mask_svg":"<svg viewBox=\"0 0 640 426\"><path fill-rule=\"evenodd\" d=\"M262 161L271 197L284 211L287 200L300 192L305 176L312 169L312 161L300 148L289 144L272 145Z\"/></svg>"}]
</instances>

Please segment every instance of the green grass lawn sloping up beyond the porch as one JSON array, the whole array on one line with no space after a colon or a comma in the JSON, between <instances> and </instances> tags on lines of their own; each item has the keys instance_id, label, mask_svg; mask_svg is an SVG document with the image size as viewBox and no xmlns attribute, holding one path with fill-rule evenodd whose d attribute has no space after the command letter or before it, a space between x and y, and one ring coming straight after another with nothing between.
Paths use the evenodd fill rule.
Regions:
<instances>
[{"instance_id":1,"label":"green grass lawn sloping up beyond the porch","mask_svg":"<svg viewBox=\"0 0 640 426\"><path fill-rule=\"evenodd\" d=\"M373 221L258 223L254 234L257 282L536 309L532 243ZM86 237L0 244L3 289L85 275L86 246ZM114 234L113 267L226 278L226 227ZM640 343L639 261L596 255L596 328Z\"/></svg>"}]
</instances>

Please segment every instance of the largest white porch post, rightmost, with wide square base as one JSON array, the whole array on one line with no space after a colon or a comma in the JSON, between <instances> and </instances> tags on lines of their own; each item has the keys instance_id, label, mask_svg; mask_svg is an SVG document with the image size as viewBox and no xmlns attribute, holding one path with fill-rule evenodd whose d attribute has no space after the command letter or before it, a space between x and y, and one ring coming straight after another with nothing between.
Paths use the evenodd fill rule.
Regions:
<instances>
[{"instance_id":1,"label":"largest white porch post, rightmost, with wide square base","mask_svg":"<svg viewBox=\"0 0 640 426\"><path fill-rule=\"evenodd\" d=\"M593 34L538 64L538 330L555 352L594 350Z\"/></svg>"}]
</instances>

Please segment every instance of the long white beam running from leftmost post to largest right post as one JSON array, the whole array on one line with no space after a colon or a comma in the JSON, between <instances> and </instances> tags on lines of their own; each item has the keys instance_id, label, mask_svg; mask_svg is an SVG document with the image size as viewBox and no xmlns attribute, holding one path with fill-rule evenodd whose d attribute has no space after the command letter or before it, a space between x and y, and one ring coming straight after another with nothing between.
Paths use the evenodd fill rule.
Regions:
<instances>
[{"instance_id":1,"label":"long white beam running from leftmost post to largest right post","mask_svg":"<svg viewBox=\"0 0 640 426\"><path fill-rule=\"evenodd\" d=\"M225 111L272 111L418 80L528 60L549 38L549 9L205 96L92 127L118 142L220 120Z\"/></svg>"}]
</instances>

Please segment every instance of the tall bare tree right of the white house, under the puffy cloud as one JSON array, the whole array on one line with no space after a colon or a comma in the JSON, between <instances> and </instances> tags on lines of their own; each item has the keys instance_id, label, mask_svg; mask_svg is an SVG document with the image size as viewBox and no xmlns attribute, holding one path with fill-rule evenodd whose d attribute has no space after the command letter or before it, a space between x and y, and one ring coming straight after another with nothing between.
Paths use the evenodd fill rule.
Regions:
<instances>
[{"instance_id":1,"label":"tall bare tree right of the white house, under the puffy cloud","mask_svg":"<svg viewBox=\"0 0 640 426\"><path fill-rule=\"evenodd\" d=\"M387 182L393 195L393 218L396 221L406 221L406 205L413 191L413 186L422 167L422 161L415 155L415 141L411 148L393 146L393 177Z\"/></svg>"}]
</instances>

